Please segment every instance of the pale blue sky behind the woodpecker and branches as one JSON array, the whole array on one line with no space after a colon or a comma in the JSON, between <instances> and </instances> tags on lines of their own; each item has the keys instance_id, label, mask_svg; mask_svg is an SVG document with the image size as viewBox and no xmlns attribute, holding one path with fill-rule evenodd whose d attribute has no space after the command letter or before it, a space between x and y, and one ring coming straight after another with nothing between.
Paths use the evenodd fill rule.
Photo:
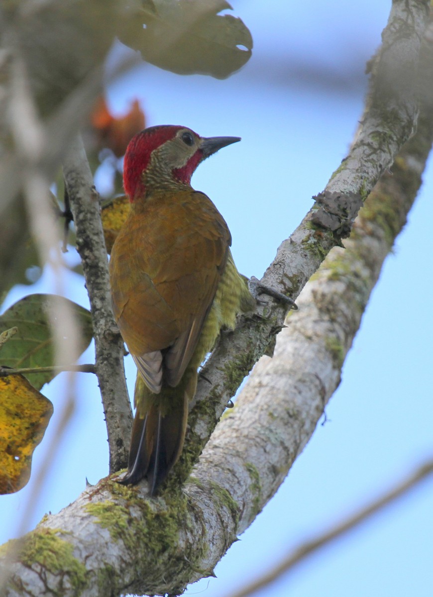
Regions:
<instances>
[{"instance_id":1,"label":"pale blue sky behind the woodpecker and branches","mask_svg":"<svg viewBox=\"0 0 433 597\"><path fill-rule=\"evenodd\" d=\"M254 38L253 57L226 81L143 66L110 85L115 112L137 97L148 124L181 124L242 142L202 164L192 184L217 205L233 236L238 269L260 277L345 156L363 107L365 61L380 43L391 2L234 2ZM188 595L223 597L265 571L285 550L327 528L433 454L430 232L433 172L386 260L342 383L288 478L216 568ZM69 256L73 259L73 256ZM34 291L53 291L50 272ZM11 304L33 289L17 288ZM67 295L87 304L78 276ZM91 350L83 362L93 359ZM133 386L134 367L127 365ZM76 410L60 441L31 520L57 512L108 472L102 406L92 376L79 376ZM35 453L35 471L62 412L62 376L46 389L55 414ZM0 539L17 533L33 481L1 497ZM431 597L433 480L351 536L305 561L259 597Z\"/></svg>"}]
</instances>

